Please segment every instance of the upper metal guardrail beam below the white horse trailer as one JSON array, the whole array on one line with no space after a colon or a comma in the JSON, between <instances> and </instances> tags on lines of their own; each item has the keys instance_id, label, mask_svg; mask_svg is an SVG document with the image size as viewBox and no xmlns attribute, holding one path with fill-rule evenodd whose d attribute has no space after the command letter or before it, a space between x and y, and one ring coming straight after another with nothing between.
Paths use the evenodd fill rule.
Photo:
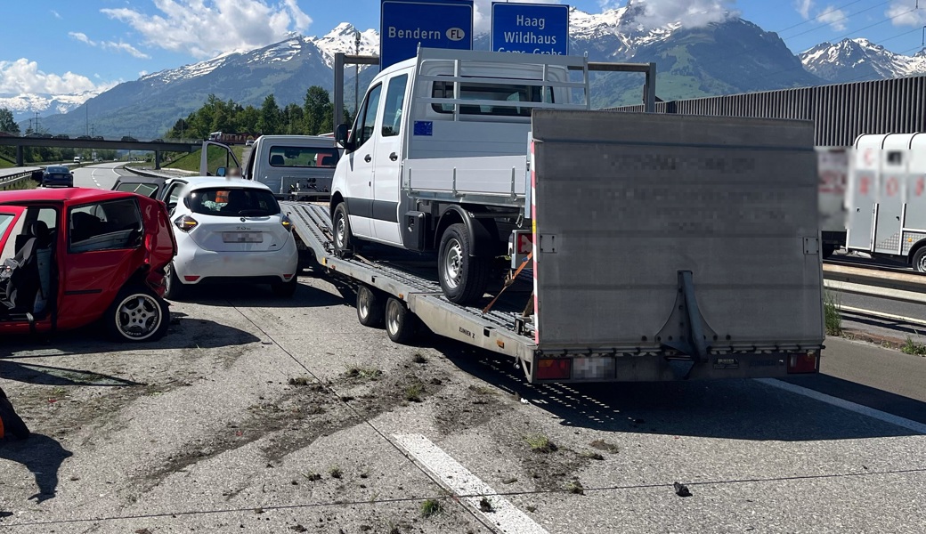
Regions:
<instances>
[{"instance_id":1,"label":"upper metal guardrail beam below the white horse trailer","mask_svg":"<svg viewBox=\"0 0 926 534\"><path fill-rule=\"evenodd\" d=\"M832 291L926 304L926 277L913 273L824 264L823 283Z\"/></svg>"}]
</instances>

